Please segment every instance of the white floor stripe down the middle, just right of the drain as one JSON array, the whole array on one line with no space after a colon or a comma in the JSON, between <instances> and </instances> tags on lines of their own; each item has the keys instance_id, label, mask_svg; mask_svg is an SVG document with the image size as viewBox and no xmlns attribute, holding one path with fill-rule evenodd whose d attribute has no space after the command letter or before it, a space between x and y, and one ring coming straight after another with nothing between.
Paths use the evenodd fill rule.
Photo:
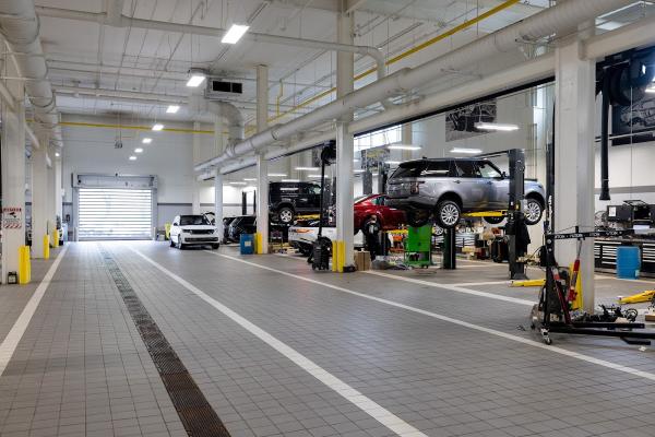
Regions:
<instances>
[{"instance_id":1,"label":"white floor stripe down the middle, just right of the drain","mask_svg":"<svg viewBox=\"0 0 655 437\"><path fill-rule=\"evenodd\" d=\"M374 420L380 422L382 425L386 426L389 429L394 432L396 435L402 436L402 437L427 437L426 434L421 433L414 426L409 425L408 423L406 423L405 421L403 421L402 418L400 418L398 416L396 416L389 410L384 409L380 404L373 402L372 400L370 400L369 398L364 395L361 392L359 392L358 390L348 386L346 382L342 381L334 375L327 373L327 370L323 369L318 364L313 363L311 359L307 358L305 355L300 354L293 347L288 346L287 344L283 343L279 340L277 340L275 336L271 335L270 333L267 333L266 331L264 331L257 324L252 323L251 321L243 318L239 314L233 311L231 309L229 309L228 307L226 307L218 300L209 296L202 290L198 288L196 286L189 283L184 279L178 276L177 274L170 272L168 269L164 268L156 261L150 259L148 257L146 257L139 250L131 248L131 247L130 247L130 249L134 253L136 253L141 258L143 258L146 262L148 262L150 264L152 264L153 267L155 267L156 269L162 271L164 274L168 275L169 277L171 277L172 280L178 282L184 288L187 288L191 293L195 294L198 297L200 297L207 304L212 305L214 308L216 308L218 311L223 312L225 316L229 317L231 320L237 322L243 329L248 330L250 333L255 335L258 339L260 339L264 343L269 344L275 351L277 351L282 355L286 356L288 359L294 362L296 365L298 365L305 371L309 373L314 378L317 378L318 380L323 382L325 386L327 386L332 390L336 391L338 394L341 394L346 400L348 400L349 402L352 402L353 404L358 406L360 410L362 410L368 415L370 415L371 417L373 417ZM214 253L209 250L207 250L207 252ZM214 253L214 255L219 255L219 253ZM219 256L227 257L224 255L219 255ZM227 257L227 258L231 258L231 257ZM258 265L258 264L253 263L253 265Z\"/></svg>"}]
</instances>

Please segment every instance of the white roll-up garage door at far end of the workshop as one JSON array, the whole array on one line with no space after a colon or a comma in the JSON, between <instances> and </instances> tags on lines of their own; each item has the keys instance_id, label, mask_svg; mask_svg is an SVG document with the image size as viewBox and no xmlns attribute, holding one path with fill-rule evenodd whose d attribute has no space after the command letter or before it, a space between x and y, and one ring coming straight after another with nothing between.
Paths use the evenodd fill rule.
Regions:
<instances>
[{"instance_id":1,"label":"white roll-up garage door at far end of the workshop","mask_svg":"<svg viewBox=\"0 0 655 437\"><path fill-rule=\"evenodd\" d=\"M78 237L150 239L152 201L150 189L80 188Z\"/></svg>"}]
</instances>

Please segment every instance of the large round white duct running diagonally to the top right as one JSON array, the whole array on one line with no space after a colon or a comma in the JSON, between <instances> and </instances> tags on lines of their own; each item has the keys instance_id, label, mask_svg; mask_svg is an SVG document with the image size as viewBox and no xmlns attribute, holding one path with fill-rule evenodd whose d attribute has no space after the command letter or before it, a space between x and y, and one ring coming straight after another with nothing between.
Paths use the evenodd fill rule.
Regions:
<instances>
[{"instance_id":1,"label":"large round white duct running diagonally to the top right","mask_svg":"<svg viewBox=\"0 0 655 437\"><path fill-rule=\"evenodd\" d=\"M384 98L407 93L413 88L432 82L444 70L463 69L473 62L479 62L491 56L502 55L505 51L515 49L523 42L538 40L553 34L558 36L571 34L575 32L579 23L630 3L630 0L595 0L594 2L568 0L561 4L558 3L431 61L412 69L405 68L396 71L309 114L257 133L243 142L227 147L222 155L196 165L194 169L195 172L202 172L210 167L221 167L236 156L263 150L299 132L310 130L330 120L336 120L343 114L356 108L365 108Z\"/></svg>"}]
</instances>

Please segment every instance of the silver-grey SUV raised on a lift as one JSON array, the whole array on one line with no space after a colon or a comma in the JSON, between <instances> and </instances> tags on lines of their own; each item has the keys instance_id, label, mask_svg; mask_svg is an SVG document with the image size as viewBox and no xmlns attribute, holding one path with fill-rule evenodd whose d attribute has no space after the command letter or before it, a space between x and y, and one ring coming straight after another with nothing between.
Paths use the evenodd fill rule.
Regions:
<instances>
[{"instance_id":1,"label":"silver-grey SUV raised on a lift","mask_svg":"<svg viewBox=\"0 0 655 437\"><path fill-rule=\"evenodd\" d=\"M402 163L386 182L389 206L404 210L412 226L434 220L440 227L457 225L462 213L507 210L510 181L486 158L424 158ZM541 184L525 180L524 212L528 225L541 220L546 193ZM498 217L485 217L500 223Z\"/></svg>"}]
</instances>

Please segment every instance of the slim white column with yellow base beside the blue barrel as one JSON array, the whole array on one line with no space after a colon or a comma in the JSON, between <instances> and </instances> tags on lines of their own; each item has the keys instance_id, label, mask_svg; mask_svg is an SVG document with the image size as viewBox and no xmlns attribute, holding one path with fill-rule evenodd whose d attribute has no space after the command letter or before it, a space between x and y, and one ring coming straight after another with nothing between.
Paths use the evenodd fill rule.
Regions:
<instances>
[{"instance_id":1,"label":"slim white column with yellow base beside the blue barrel","mask_svg":"<svg viewBox=\"0 0 655 437\"><path fill-rule=\"evenodd\" d=\"M257 66L257 131L269 126L269 67ZM257 233L258 252L269 253L269 163L257 155Z\"/></svg>"}]
</instances>

